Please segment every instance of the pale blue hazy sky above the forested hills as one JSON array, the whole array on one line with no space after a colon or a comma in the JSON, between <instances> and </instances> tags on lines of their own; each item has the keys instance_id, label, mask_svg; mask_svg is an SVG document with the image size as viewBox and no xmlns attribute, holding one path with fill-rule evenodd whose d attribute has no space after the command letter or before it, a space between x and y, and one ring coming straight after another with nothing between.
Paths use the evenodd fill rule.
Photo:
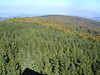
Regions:
<instances>
[{"instance_id":1,"label":"pale blue hazy sky above the forested hills","mask_svg":"<svg viewBox=\"0 0 100 75\"><path fill-rule=\"evenodd\" d=\"M0 16L25 14L100 17L100 0L0 0Z\"/></svg>"}]
</instances>

